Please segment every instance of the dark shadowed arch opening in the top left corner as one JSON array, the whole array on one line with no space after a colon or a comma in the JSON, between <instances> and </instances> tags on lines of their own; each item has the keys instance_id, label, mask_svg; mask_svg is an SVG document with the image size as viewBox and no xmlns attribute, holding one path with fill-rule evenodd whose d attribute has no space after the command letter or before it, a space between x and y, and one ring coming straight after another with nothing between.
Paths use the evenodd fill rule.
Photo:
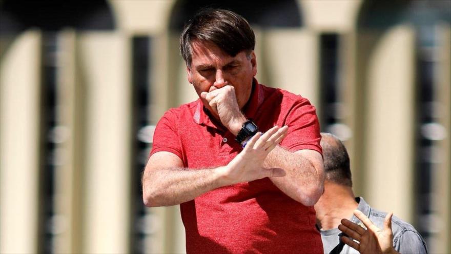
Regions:
<instances>
[{"instance_id":1,"label":"dark shadowed arch opening in the top left corner","mask_svg":"<svg viewBox=\"0 0 451 254\"><path fill-rule=\"evenodd\" d=\"M105 0L86 1L26 1L0 2L0 57L16 36L29 28L56 32L64 28L75 30L114 30L115 19Z\"/></svg>"}]
</instances>

